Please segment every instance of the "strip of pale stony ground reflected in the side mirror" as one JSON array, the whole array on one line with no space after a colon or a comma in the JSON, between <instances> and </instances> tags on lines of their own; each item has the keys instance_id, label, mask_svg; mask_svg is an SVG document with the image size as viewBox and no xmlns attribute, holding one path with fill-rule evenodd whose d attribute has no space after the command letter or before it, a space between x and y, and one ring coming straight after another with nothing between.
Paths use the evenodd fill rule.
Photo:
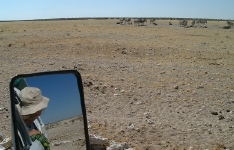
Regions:
<instances>
[{"instance_id":1,"label":"strip of pale stony ground reflected in the side mirror","mask_svg":"<svg viewBox=\"0 0 234 150\"><path fill-rule=\"evenodd\" d=\"M82 116L47 124L45 128L51 149L86 149Z\"/></svg>"}]
</instances>

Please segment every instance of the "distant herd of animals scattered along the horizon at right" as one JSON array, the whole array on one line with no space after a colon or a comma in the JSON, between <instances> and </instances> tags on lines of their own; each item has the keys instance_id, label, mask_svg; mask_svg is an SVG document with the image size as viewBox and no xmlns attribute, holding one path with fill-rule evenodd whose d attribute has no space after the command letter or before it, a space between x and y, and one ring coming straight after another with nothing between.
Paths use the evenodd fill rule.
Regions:
<instances>
[{"instance_id":1,"label":"distant herd of animals scattered along the horizon at right","mask_svg":"<svg viewBox=\"0 0 234 150\"><path fill-rule=\"evenodd\" d=\"M133 22L133 23L132 23ZM137 26L145 26L145 22L147 22L147 19L132 19L131 18L121 18L116 24L120 25L137 25ZM149 19L149 23L153 25L158 25L156 23L156 19ZM178 22L180 27L184 28L190 28L190 27L200 27L200 28L207 28L207 20L205 19L197 19L197 20L179 20ZM230 29L233 27L233 22L227 21L227 26L223 26L222 29ZM168 25L172 25L171 22L168 22Z\"/></svg>"}]
</instances>

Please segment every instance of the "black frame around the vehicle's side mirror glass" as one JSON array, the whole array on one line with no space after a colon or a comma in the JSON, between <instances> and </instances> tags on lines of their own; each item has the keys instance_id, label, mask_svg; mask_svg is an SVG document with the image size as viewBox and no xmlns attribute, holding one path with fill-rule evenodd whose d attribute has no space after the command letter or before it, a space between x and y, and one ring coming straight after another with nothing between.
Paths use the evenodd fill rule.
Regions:
<instances>
[{"instance_id":1,"label":"black frame around the vehicle's side mirror glass","mask_svg":"<svg viewBox=\"0 0 234 150\"><path fill-rule=\"evenodd\" d=\"M80 92L80 101L81 101L81 108L83 113L83 122L84 122L84 133L85 133L85 141L86 141L86 149L90 149L90 142L89 142L89 134L88 134L88 124L87 124L87 116L86 116L86 109L85 109L85 102L84 102L84 91L83 91L83 84L81 75L77 70L59 70L59 71L48 71L48 72L37 72L37 73L31 73L31 74L19 74L14 76L11 79L10 82L10 89L13 89L14 82L18 78L27 78L27 77L33 77L33 76L43 76L43 75L55 75L55 74L74 74L77 78L77 85L79 87ZM17 135L17 122L16 122L16 115L15 113L15 102L14 102L14 90L10 90L10 111L11 111L11 135L12 135L12 144L15 146L15 149L20 149L18 138L16 138L15 135ZM13 126L12 126L13 124Z\"/></svg>"}]
</instances>

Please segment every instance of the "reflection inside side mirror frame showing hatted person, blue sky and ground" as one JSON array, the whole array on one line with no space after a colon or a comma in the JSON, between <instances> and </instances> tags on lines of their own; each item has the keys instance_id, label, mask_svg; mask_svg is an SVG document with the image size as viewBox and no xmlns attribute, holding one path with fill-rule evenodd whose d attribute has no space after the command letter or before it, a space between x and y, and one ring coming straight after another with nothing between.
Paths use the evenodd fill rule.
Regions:
<instances>
[{"instance_id":1,"label":"reflection inside side mirror frame showing hatted person, blue sky and ground","mask_svg":"<svg viewBox=\"0 0 234 150\"><path fill-rule=\"evenodd\" d=\"M14 87L10 90L14 90L15 99L11 102L14 101L30 135L30 149L39 145L53 150L87 148L83 89L79 89L82 87L77 80L72 73L20 76L12 80ZM38 131L43 134L38 136ZM18 139L21 148L27 143L22 136Z\"/></svg>"}]
</instances>

